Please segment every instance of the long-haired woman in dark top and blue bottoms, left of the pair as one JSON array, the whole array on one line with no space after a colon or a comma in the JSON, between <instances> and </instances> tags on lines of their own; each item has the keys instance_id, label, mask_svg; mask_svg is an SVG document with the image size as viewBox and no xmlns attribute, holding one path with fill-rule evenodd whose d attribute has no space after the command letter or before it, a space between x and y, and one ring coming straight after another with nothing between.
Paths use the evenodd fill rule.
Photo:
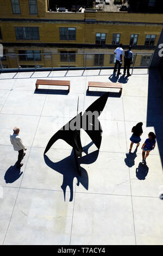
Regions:
<instances>
[{"instance_id":1,"label":"long-haired woman in dark top and blue bottoms, left of the pair","mask_svg":"<svg viewBox=\"0 0 163 256\"><path fill-rule=\"evenodd\" d=\"M143 123L138 123L136 124L131 132L133 132L133 135L130 137L130 141L131 141L131 144L130 144L130 149L129 149L129 153L131 153L131 149L133 148L133 144L136 143L137 146L136 147L139 147L139 142L141 141L141 138L140 136L142 135L143 133L143 130L142 130L142 125Z\"/></svg>"}]
</instances>

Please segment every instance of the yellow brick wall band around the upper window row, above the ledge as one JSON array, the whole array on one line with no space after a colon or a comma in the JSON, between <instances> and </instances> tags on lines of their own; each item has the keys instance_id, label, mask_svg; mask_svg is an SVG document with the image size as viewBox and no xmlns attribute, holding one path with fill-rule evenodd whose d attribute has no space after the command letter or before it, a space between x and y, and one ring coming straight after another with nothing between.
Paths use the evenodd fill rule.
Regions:
<instances>
[{"instance_id":1,"label":"yellow brick wall band around the upper window row, above the ledge","mask_svg":"<svg viewBox=\"0 0 163 256\"><path fill-rule=\"evenodd\" d=\"M15 27L39 27L40 40L16 40ZM60 40L60 27L76 27L76 40ZM110 24L85 24L84 23L27 23L27 22L1 22L3 40L1 42L49 42L63 44L95 44L96 33L106 33L106 44L112 44L112 34L120 33L120 42L128 45L130 34L139 34L137 45L145 45L147 34L156 35L157 44L161 32L161 26L147 25L110 25Z\"/></svg>"}]
</instances>

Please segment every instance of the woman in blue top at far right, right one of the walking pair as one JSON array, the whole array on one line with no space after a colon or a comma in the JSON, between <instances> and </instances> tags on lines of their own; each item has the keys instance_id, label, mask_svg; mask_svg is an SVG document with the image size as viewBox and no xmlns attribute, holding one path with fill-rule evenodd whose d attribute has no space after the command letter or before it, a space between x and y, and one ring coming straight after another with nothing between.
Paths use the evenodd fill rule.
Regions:
<instances>
[{"instance_id":1,"label":"woman in blue top at far right, right one of the walking pair","mask_svg":"<svg viewBox=\"0 0 163 256\"><path fill-rule=\"evenodd\" d=\"M145 143L142 145L141 149L142 151L142 163L145 163L147 156L149 155L149 152L155 148L155 140L156 136L154 132L149 132L148 139L146 139ZM146 154L146 156L145 156Z\"/></svg>"}]
</instances>

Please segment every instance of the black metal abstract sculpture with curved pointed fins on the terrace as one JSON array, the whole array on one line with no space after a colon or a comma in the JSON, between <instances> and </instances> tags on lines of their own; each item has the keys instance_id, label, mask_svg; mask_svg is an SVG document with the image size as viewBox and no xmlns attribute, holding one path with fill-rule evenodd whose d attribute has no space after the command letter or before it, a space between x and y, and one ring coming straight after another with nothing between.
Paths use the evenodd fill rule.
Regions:
<instances>
[{"instance_id":1,"label":"black metal abstract sculpture with curved pointed fins on the terrace","mask_svg":"<svg viewBox=\"0 0 163 256\"><path fill-rule=\"evenodd\" d=\"M78 157L82 156L83 151L80 140L80 129L85 130L87 135L89 135L92 139L92 142L99 149L102 141L102 128L98 117L105 107L108 96L109 93L105 93L99 97L86 109L83 115L82 112L80 112L78 115L76 115L76 117L71 119L58 132L56 132L49 140L44 154L47 153L47 151L58 139L63 139L73 148L78 174L81 175L81 170L78 163Z\"/></svg>"}]
</instances>

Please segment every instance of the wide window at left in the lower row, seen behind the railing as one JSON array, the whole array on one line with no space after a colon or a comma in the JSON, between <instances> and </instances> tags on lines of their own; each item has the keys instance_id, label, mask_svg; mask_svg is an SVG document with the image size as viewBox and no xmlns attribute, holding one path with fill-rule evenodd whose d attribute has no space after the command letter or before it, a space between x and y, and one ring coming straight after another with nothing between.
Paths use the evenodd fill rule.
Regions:
<instances>
[{"instance_id":1,"label":"wide window at left in the lower row, seen behind the railing","mask_svg":"<svg viewBox=\"0 0 163 256\"><path fill-rule=\"evenodd\" d=\"M18 54L22 54L19 56L20 60L41 60L41 51L33 51L33 50L20 50Z\"/></svg>"}]
</instances>

